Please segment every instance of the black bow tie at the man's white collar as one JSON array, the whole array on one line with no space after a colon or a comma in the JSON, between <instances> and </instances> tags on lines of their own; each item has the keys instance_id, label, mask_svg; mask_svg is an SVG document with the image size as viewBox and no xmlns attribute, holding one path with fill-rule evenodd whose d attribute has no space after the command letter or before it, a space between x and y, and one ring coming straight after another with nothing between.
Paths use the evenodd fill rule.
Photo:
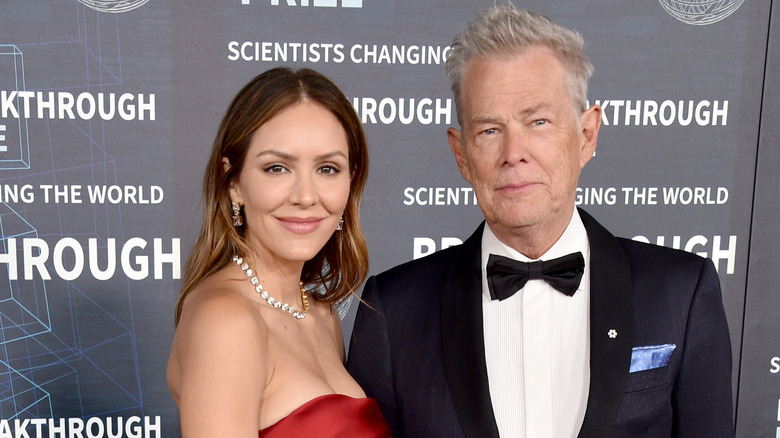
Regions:
<instances>
[{"instance_id":1,"label":"black bow tie at the man's white collar","mask_svg":"<svg viewBox=\"0 0 780 438\"><path fill-rule=\"evenodd\" d=\"M490 298L505 300L522 289L528 280L544 280L560 292L572 296L580 285L583 272L585 259L579 252L529 263L490 254L487 266Z\"/></svg>"}]
</instances>

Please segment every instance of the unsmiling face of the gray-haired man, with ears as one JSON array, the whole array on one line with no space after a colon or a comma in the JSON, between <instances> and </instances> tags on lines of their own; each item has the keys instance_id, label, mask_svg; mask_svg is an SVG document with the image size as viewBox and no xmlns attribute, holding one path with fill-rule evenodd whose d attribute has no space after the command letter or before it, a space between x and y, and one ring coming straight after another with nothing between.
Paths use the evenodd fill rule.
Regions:
<instances>
[{"instance_id":1,"label":"unsmiling face of the gray-haired man, with ears","mask_svg":"<svg viewBox=\"0 0 780 438\"><path fill-rule=\"evenodd\" d=\"M547 48L478 58L461 85L462 131L447 132L463 177L494 233L563 233L580 170L596 148L600 108L581 113Z\"/></svg>"}]
</instances>

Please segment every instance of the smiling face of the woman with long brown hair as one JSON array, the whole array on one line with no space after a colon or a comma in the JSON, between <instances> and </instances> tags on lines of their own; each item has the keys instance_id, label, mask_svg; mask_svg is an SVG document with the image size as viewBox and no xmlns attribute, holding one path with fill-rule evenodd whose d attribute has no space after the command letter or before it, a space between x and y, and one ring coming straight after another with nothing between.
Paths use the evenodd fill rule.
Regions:
<instances>
[{"instance_id":1,"label":"smiling face of the woman with long brown hair","mask_svg":"<svg viewBox=\"0 0 780 438\"><path fill-rule=\"evenodd\" d=\"M230 197L244 207L246 238L260 260L304 262L335 232L349 189L344 128L304 101L255 131Z\"/></svg>"}]
</instances>

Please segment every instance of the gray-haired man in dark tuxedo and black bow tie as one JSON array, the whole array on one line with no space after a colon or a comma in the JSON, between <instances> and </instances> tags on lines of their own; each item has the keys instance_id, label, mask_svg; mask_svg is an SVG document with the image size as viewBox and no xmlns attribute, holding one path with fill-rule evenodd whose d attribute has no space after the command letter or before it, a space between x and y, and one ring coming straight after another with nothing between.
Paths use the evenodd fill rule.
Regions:
<instances>
[{"instance_id":1,"label":"gray-haired man in dark tuxedo and black bow tie","mask_svg":"<svg viewBox=\"0 0 780 438\"><path fill-rule=\"evenodd\" d=\"M447 134L486 226L366 283L348 369L394 436L733 436L712 262L575 208L601 121L580 35L497 5L452 47Z\"/></svg>"}]
</instances>

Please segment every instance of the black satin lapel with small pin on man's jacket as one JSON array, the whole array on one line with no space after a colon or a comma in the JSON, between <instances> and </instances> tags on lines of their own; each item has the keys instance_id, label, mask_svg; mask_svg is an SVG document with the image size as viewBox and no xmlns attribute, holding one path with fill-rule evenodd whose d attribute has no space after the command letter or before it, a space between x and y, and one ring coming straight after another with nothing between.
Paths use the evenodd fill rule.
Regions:
<instances>
[{"instance_id":1,"label":"black satin lapel with small pin on man's jacket","mask_svg":"<svg viewBox=\"0 0 780 438\"><path fill-rule=\"evenodd\" d=\"M579 212L590 241L590 392L579 436L606 437L617 420L631 363L631 269L615 236Z\"/></svg>"}]
</instances>

